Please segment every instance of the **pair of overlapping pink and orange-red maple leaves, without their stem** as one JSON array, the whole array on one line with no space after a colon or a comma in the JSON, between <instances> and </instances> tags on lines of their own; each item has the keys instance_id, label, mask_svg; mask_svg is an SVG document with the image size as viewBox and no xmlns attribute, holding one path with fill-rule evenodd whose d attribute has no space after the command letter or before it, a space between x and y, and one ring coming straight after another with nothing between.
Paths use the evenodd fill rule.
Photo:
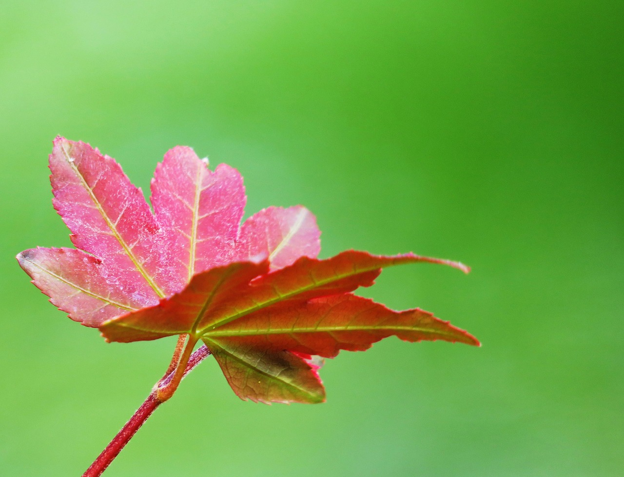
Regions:
<instances>
[{"instance_id":1,"label":"pair of overlapping pink and orange-red maple leaves, without their stem","mask_svg":"<svg viewBox=\"0 0 624 477\"><path fill-rule=\"evenodd\" d=\"M192 350L202 340L242 399L324 401L314 357L392 335L479 345L429 312L396 312L352 293L392 265L467 267L354 250L319 260L320 232L305 207L269 207L241 225L238 171L211 171L188 147L157 165L154 212L115 160L88 144L57 137L50 169L54 207L77 249L19 253L32 282L108 341L188 335Z\"/></svg>"}]
</instances>

